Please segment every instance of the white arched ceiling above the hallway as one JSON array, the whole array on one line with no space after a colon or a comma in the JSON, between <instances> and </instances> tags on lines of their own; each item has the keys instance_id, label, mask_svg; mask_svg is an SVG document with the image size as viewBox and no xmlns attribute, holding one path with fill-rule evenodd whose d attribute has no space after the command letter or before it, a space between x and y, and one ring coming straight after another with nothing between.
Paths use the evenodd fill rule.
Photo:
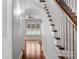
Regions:
<instances>
[{"instance_id":1,"label":"white arched ceiling above the hallway","mask_svg":"<svg viewBox=\"0 0 79 59\"><path fill-rule=\"evenodd\" d=\"M38 0L19 0L20 11L23 16L41 16L43 5Z\"/></svg>"}]
</instances>

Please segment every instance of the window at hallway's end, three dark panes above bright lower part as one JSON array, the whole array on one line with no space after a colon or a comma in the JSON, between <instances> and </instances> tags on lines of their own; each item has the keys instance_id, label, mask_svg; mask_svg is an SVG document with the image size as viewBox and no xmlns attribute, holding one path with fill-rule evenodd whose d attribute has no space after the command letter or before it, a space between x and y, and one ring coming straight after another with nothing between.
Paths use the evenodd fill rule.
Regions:
<instances>
[{"instance_id":1,"label":"window at hallway's end, three dark panes above bright lower part","mask_svg":"<svg viewBox=\"0 0 79 59\"><path fill-rule=\"evenodd\" d=\"M40 35L40 24L27 24L26 35Z\"/></svg>"}]
</instances>

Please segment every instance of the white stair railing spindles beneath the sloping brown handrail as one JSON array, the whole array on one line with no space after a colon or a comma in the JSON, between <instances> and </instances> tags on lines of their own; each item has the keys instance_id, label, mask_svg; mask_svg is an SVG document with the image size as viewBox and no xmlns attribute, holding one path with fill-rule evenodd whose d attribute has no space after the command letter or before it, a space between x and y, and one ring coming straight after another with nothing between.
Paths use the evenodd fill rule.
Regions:
<instances>
[{"instance_id":1,"label":"white stair railing spindles beneath the sloping brown handrail","mask_svg":"<svg viewBox=\"0 0 79 59\"><path fill-rule=\"evenodd\" d=\"M73 1L72 1L73 2ZM70 6L70 0L66 0L68 6ZM74 2L75 4L75 2ZM76 7L73 7L74 9ZM60 9L58 7L58 9ZM76 9L75 9L76 11ZM58 14L58 15L57 15ZM62 10L58 10L57 14L55 15L57 18L54 19L54 24L58 34L60 34L60 43L57 46L60 50L60 54L65 51L65 58L67 59L76 59L76 35L77 34L77 27L75 27L72 22L70 21L71 18L68 17L67 14L62 12ZM53 16L53 17L55 17ZM75 19L74 19L75 20ZM75 24L75 23L74 23ZM74 34L75 33L75 34ZM59 40L58 40L59 41ZM63 53L64 54L64 53Z\"/></svg>"}]
</instances>

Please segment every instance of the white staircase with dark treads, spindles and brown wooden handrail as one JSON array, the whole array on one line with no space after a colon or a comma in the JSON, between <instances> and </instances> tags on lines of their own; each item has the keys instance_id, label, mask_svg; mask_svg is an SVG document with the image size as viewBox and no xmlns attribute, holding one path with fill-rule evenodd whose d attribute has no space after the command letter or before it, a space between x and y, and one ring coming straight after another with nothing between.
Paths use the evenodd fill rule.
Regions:
<instances>
[{"instance_id":1,"label":"white staircase with dark treads, spindles and brown wooden handrail","mask_svg":"<svg viewBox=\"0 0 79 59\"><path fill-rule=\"evenodd\" d=\"M53 16L47 2L43 2L44 10L54 32L59 59L76 59L77 0L54 0L58 9Z\"/></svg>"}]
</instances>

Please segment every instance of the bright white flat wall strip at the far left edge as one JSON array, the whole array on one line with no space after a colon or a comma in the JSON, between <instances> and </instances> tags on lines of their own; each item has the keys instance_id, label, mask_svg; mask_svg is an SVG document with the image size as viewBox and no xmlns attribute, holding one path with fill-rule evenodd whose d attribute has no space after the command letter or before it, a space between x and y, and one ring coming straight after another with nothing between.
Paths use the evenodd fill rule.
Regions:
<instances>
[{"instance_id":1,"label":"bright white flat wall strip at the far left edge","mask_svg":"<svg viewBox=\"0 0 79 59\"><path fill-rule=\"evenodd\" d=\"M2 58L12 59L12 0L3 0Z\"/></svg>"}]
</instances>

